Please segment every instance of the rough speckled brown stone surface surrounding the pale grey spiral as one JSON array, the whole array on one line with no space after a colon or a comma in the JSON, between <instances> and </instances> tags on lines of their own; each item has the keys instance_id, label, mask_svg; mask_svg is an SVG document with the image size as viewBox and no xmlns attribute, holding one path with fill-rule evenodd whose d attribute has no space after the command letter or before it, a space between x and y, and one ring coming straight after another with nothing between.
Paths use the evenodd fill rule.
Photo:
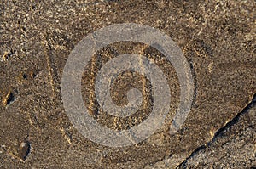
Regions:
<instances>
[{"instance_id":1,"label":"rough speckled brown stone surface surrounding the pale grey spiral","mask_svg":"<svg viewBox=\"0 0 256 169\"><path fill-rule=\"evenodd\" d=\"M254 8L253 0L2 0L0 167L256 166L255 108L251 108L255 107L252 99L256 93ZM116 23L138 23L164 31L188 59L195 97L187 120L175 135L168 132L178 93L172 66L167 76L174 96L170 118L142 143L108 148L84 138L69 121L61 101L61 75L68 54L84 36ZM104 59L126 52L157 56L153 49L133 43L113 44L99 55ZM101 60L92 59L91 65L96 66L85 69L82 84L86 106L94 99L86 73L95 75L98 63ZM125 88L117 89L113 91L117 99L113 100L125 102L119 99ZM92 115L95 108L91 108ZM103 115L99 121L110 128L133 125L122 120L114 123L107 117ZM147 111L143 118L147 118ZM230 122L234 119L236 122Z\"/></svg>"}]
</instances>

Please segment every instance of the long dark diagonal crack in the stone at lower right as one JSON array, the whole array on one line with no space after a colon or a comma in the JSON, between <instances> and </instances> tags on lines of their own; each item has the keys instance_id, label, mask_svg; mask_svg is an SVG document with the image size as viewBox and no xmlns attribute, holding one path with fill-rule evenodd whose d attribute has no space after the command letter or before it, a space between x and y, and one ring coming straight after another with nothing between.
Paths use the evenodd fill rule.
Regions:
<instances>
[{"instance_id":1,"label":"long dark diagonal crack in the stone at lower right","mask_svg":"<svg viewBox=\"0 0 256 169\"><path fill-rule=\"evenodd\" d=\"M215 132L214 137L212 138L212 140L210 142L208 142L207 144L201 145L200 147L196 148L191 155L189 155L189 157L187 157L181 164L179 164L177 166L177 168L185 168L187 162L193 157L195 156L198 152L200 152L202 149L206 149L207 147L211 146L212 143L215 142L215 140L219 137L222 136L223 132L225 130L227 130L228 128L232 127L233 125L235 125L241 118L241 115L244 115L248 112L248 110L250 110L251 108L253 108L254 106L256 106L256 93L253 95L253 99L252 101L247 104L247 106L241 110L240 113L238 113L230 122L228 122L224 127L221 127L220 129L218 129L217 132Z\"/></svg>"}]
</instances>

